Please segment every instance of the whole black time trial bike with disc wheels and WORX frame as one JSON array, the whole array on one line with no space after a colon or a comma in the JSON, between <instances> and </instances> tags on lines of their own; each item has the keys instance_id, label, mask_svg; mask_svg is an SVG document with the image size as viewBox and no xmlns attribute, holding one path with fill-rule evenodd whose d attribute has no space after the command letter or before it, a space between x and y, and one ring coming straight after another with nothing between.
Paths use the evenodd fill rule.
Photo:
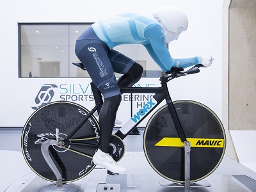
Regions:
<instances>
[{"instance_id":1,"label":"whole black time trial bike with disc wheels and WORX frame","mask_svg":"<svg viewBox=\"0 0 256 192\"><path fill-rule=\"evenodd\" d=\"M84 69L82 63L73 64ZM204 179L216 170L226 148L225 130L220 119L199 102L173 102L167 86L168 81L177 77L200 72L200 67L203 65L195 65L186 71L172 68L169 74L160 77L160 87L120 88L121 93L154 93L154 96L111 137L109 154L115 161L125 154L124 138L154 111L145 127L143 149L148 163L159 175L173 182L186 181L186 143L191 147L189 182ZM47 140L56 141L49 146L49 154L63 183L81 179L95 168L92 156L97 150L100 127L93 113L100 112L103 100L95 84L91 83L91 86L95 100L93 109L88 110L74 102L51 102L37 109L24 125L22 154L40 177L56 182L56 175L41 152L41 145ZM166 104L156 109L163 100Z\"/></svg>"}]
</instances>

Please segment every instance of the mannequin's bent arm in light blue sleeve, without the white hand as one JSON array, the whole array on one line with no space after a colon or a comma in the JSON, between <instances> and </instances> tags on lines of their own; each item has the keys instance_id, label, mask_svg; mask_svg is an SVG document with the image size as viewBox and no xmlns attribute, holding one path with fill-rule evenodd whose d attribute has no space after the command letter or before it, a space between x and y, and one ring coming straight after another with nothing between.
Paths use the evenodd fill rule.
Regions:
<instances>
[{"instance_id":1,"label":"mannequin's bent arm in light blue sleeve, without the white hand","mask_svg":"<svg viewBox=\"0 0 256 192\"><path fill-rule=\"evenodd\" d=\"M163 32L161 32L162 30L163 29L157 25L146 28L145 37L148 39L149 44L143 45L153 60L164 72L169 71L172 67L191 67L202 61L202 58L197 56L186 59L173 59L164 43Z\"/></svg>"}]
</instances>

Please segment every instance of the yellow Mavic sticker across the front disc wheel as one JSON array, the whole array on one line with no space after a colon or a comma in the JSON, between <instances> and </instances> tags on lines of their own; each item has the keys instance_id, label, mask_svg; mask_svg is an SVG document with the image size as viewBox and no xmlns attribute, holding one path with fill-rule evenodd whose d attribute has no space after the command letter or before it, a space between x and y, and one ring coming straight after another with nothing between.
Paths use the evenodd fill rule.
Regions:
<instances>
[{"instance_id":1,"label":"yellow Mavic sticker across the front disc wheel","mask_svg":"<svg viewBox=\"0 0 256 192\"><path fill-rule=\"evenodd\" d=\"M208 138L187 138L191 147L224 147L224 139L208 139ZM163 138L155 146L160 147L184 147L184 143L180 138Z\"/></svg>"}]
</instances>

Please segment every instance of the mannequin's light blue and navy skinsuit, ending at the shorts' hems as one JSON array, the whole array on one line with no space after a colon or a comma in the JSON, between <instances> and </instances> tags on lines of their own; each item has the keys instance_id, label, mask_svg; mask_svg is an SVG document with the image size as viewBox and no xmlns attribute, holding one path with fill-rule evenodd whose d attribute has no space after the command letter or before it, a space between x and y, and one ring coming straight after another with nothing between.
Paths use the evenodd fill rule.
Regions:
<instances>
[{"instance_id":1,"label":"mannequin's light blue and navy skinsuit, ending at the shorts' hems","mask_svg":"<svg viewBox=\"0 0 256 192\"><path fill-rule=\"evenodd\" d=\"M164 72L172 67L186 68L198 64L198 57L173 59L170 56L164 42L164 31L156 20L136 13L123 13L100 20L79 36L76 54L104 97L120 94L114 72L125 74L134 63L113 50L121 44L144 45ZM111 84L108 90L104 89L106 83Z\"/></svg>"}]
</instances>

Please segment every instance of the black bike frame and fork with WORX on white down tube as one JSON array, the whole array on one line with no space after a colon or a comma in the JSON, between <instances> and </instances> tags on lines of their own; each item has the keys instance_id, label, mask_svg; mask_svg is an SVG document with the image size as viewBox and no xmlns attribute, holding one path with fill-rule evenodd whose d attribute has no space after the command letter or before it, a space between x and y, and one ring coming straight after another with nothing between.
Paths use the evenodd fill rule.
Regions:
<instances>
[{"instance_id":1,"label":"black bike frame and fork with WORX on white down tube","mask_svg":"<svg viewBox=\"0 0 256 192\"><path fill-rule=\"evenodd\" d=\"M166 81L164 81L164 77L160 78L161 87L130 87L130 88L120 88L121 93L155 93L155 95L145 104L134 116L132 116L118 131L116 131L115 135L119 136L122 140L132 132L135 127L140 124L164 99L166 100L166 104L168 105L168 109L173 118L173 122L179 134L180 140L184 143L186 140L186 136L180 124L179 118L177 116L176 110L173 106L172 99L170 97L170 93L168 90L168 86ZM77 125L76 129L70 133L70 135L65 139L65 143L68 145L76 145L81 147L90 147L94 146L92 144L86 143L71 143L68 142L72 136L80 129L80 127L86 122L90 116L97 110L98 113L102 107L102 96L95 86L94 83L91 83L93 97L95 100L95 107L88 113L88 115L84 116L84 119L81 121L79 125Z\"/></svg>"}]
</instances>

